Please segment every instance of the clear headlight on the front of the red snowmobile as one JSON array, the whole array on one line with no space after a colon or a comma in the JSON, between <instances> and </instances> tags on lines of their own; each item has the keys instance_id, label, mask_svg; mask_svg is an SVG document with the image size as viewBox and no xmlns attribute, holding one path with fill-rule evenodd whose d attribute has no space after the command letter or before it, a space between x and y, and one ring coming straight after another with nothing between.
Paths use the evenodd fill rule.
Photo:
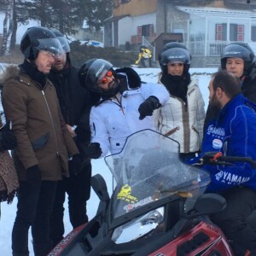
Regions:
<instances>
[{"instance_id":1,"label":"clear headlight on the front of the red snowmobile","mask_svg":"<svg viewBox=\"0 0 256 256\"><path fill-rule=\"evenodd\" d=\"M164 207L160 207L113 230L112 240L117 244L136 240L154 230L163 219Z\"/></svg>"}]
</instances>

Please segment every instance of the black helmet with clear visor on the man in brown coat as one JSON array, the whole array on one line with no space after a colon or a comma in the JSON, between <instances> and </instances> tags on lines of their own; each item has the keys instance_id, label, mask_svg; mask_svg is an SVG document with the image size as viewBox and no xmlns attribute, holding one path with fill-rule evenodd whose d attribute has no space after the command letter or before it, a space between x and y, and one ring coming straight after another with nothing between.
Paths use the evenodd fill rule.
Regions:
<instances>
[{"instance_id":1,"label":"black helmet with clear visor on the man in brown coat","mask_svg":"<svg viewBox=\"0 0 256 256\"><path fill-rule=\"evenodd\" d=\"M28 28L21 38L20 50L26 59L35 60L38 50L47 50L53 54L60 54L63 49L55 34L44 26Z\"/></svg>"}]
</instances>

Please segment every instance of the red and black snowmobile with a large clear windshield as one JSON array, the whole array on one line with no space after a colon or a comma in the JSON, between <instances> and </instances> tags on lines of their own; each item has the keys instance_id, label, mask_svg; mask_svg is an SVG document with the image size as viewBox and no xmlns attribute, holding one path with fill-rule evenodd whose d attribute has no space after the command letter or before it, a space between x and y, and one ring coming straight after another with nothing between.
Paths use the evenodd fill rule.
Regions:
<instances>
[{"instance_id":1,"label":"red and black snowmobile with a large clear windshield","mask_svg":"<svg viewBox=\"0 0 256 256\"><path fill-rule=\"evenodd\" d=\"M128 137L119 154L105 157L116 182L111 198L103 177L92 177L100 199L95 218L71 231L48 255L234 255L208 217L223 210L226 201L204 193L209 174L185 165L178 152L176 141L156 131ZM209 154L205 160L214 164L217 157Z\"/></svg>"}]
</instances>

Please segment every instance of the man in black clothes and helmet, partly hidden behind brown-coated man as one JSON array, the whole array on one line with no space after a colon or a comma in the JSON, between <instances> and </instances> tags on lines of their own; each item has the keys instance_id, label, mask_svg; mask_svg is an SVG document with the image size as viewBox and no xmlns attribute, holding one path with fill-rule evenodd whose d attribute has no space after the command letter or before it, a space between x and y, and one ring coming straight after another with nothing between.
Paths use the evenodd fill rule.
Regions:
<instances>
[{"instance_id":1,"label":"man in black clothes and helmet, partly hidden behind brown-coated man","mask_svg":"<svg viewBox=\"0 0 256 256\"><path fill-rule=\"evenodd\" d=\"M79 166L73 165L73 161L70 161L70 177L64 177L58 183L50 225L50 237L55 245L61 241L64 235L63 204L66 192L68 195L69 218L73 229L88 222L86 201L90 198L90 157L93 157L93 155L89 155L86 149L90 143L90 106L94 102L90 92L79 84L79 69L71 64L67 38L59 31L52 30L52 32L61 42L64 54L55 59L49 79L55 85L61 113L81 156Z\"/></svg>"}]
</instances>

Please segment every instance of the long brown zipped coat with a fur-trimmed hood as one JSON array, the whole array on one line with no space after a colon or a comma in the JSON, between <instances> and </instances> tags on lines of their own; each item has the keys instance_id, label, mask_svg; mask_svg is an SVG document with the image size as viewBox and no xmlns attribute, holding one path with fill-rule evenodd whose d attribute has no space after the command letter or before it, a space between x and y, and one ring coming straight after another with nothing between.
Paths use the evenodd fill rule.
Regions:
<instances>
[{"instance_id":1,"label":"long brown zipped coat with a fur-trimmed hood","mask_svg":"<svg viewBox=\"0 0 256 256\"><path fill-rule=\"evenodd\" d=\"M39 166L42 180L68 176L68 154L79 154L67 130L55 87L42 88L20 67L7 67L3 77L3 109L17 139L14 160L20 180L26 169Z\"/></svg>"}]
</instances>

